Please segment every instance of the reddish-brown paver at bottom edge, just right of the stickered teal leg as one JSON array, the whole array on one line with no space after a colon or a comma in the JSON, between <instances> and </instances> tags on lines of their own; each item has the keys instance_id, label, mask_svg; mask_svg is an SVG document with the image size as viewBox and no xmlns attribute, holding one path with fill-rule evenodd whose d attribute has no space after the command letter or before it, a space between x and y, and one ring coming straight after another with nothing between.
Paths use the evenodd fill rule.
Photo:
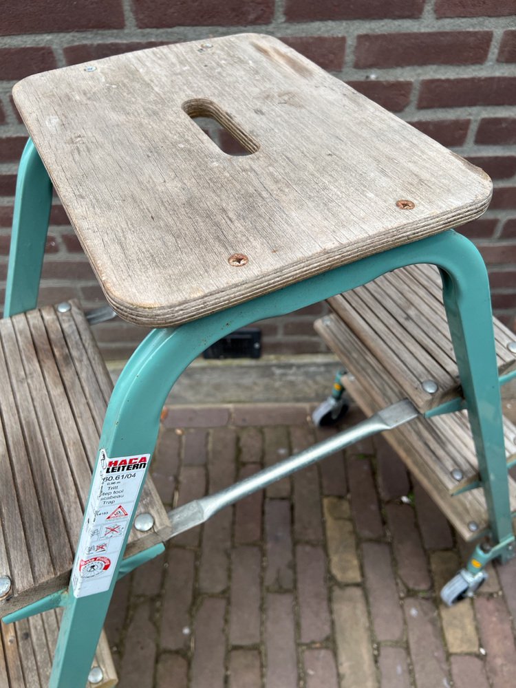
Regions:
<instances>
[{"instance_id":1,"label":"reddish-brown paver at bottom edge, just right of the stickered teal leg","mask_svg":"<svg viewBox=\"0 0 516 688\"><path fill-rule=\"evenodd\" d=\"M157 640L153 614L153 603L144 601L134 610L127 627L125 652L118 674L124 688L152 688Z\"/></svg>"}]
</instances>

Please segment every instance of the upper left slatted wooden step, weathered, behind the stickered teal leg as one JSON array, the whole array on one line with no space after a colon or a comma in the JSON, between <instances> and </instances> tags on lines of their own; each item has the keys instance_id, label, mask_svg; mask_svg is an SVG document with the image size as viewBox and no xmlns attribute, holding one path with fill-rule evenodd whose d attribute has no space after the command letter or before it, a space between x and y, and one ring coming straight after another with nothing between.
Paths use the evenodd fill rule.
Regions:
<instances>
[{"instance_id":1,"label":"upper left slatted wooden step, weathered, behind the stickered teal leg","mask_svg":"<svg viewBox=\"0 0 516 688\"><path fill-rule=\"evenodd\" d=\"M112 383L74 302L0 321L0 575L12 590L0 616L65 588L83 521ZM154 527L132 530L126 557L169 534L148 478L138 512Z\"/></svg>"}]
</instances>

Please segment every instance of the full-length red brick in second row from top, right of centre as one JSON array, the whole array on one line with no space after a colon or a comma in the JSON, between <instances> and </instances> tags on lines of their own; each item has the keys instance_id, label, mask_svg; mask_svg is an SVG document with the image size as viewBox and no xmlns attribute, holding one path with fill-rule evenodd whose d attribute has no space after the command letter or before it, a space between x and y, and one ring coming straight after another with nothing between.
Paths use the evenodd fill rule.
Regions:
<instances>
[{"instance_id":1,"label":"full-length red brick in second row from top, right of centre","mask_svg":"<svg viewBox=\"0 0 516 688\"><path fill-rule=\"evenodd\" d=\"M435 31L361 34L355 67L477 65L486 60L491 31Z\"/></svg>"}]
</instances>

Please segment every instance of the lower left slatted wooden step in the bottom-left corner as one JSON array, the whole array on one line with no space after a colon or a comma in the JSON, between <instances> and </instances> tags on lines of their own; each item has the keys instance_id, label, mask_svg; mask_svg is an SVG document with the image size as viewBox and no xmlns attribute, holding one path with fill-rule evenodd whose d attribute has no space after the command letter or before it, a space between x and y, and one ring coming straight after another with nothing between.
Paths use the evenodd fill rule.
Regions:
<instances>
[{"instance_id":1,"label":"lower left slatted wooden step in the bottom-left corner","mask_svg":"<svg viewBox=\"0 0 516 688\"><path fill-rule=\"evenodd\" d=\"M51 610L17 623L0 622L1 688L48 687L60 619L61 610ZM103 680L87 683L87 688L116 686L118 679L105 632L100 636L92 666L102 669Z\"/></svg>"}]
</instances>

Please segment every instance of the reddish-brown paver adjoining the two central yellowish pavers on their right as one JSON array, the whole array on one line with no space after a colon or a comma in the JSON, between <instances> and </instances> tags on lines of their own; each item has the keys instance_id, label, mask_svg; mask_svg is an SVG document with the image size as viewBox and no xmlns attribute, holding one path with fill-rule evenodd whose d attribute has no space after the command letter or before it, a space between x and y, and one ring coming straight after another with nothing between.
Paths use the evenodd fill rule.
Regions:
<instances>
[{"instance_id":1,"label":"reddish-brown paver adjoining the two central yellowish pavers on their right","mask_svg":"<svg viewBox=\"0 0 516 688\"><path fill-rule=\"evenodd\" d=\"M365 542L362 546L365 590L378 641L398 641L403 636L403 614L392 570L389 546Z\"/></svg>"}]
</instances>

